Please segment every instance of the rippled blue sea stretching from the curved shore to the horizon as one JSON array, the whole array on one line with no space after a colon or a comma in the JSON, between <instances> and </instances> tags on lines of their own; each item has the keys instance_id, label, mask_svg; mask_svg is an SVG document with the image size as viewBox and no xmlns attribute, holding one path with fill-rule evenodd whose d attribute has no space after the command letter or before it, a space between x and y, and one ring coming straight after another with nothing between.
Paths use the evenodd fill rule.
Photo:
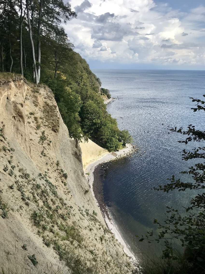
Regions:
<instances>
[{"instance_id":1,"label":"rippled blue sea stretching from the curved shore to the horizon","mask_svg":"<svg viewBox=\"0 0 205 274\"><path fill-rule=\"evenodd\" d=\"M153 219L165 219L166 206L183 211L193 193L162 193L152 190L165 184L172 174L189 163L181 160L182 135L168 133L168 125L204 127L204 113L194 112L189 97L203 98L204 71L182 70L94 70L102 87L117 98L107 105L120 129L127 129L139 153L110 163L105 173L104 198L112 218L135 252L159 251L159 246L136 241L135 235L157 232ZM118 80L119 78L119 80ZM141 155L140 155L141 154ZM184 178L188 180L191 178Z\"/></svg>"}]
</instances>

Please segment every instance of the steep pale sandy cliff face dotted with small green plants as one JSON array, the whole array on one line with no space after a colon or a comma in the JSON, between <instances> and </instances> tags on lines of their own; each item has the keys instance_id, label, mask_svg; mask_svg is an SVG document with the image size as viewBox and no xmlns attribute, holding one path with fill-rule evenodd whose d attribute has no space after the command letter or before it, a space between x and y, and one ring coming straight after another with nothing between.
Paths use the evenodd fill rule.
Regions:
<instances>
[{"instance_id":1,"label":"steep pale sandy cliff face dotted with small green plants","mask_svg":"<svg viewBox=\"0 0 205 274\"><path fill-rule=\"evenodd\" d=\"M49 273L58 266L76 273L130 267L51 90L20 77L0 79L0 266L41 273L47 264Z\"/></svg>"}]
</instances>

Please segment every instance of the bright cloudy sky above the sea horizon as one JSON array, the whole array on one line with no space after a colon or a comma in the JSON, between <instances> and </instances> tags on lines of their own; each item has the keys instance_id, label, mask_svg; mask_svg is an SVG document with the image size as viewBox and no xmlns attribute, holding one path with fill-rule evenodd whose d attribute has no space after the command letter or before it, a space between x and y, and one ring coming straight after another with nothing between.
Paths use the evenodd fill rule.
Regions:
<instances>
[{"instance_id":1,"label":"bright cloudy sky above the sea horizon","mask_svg":"<svg viewBox=\"0 0 205 274\"><path fill-rule=\"evenodd\" d=\"M205 69L204 0L70 0L63 25L91 69Z\"/></svg>"}]
</instances>

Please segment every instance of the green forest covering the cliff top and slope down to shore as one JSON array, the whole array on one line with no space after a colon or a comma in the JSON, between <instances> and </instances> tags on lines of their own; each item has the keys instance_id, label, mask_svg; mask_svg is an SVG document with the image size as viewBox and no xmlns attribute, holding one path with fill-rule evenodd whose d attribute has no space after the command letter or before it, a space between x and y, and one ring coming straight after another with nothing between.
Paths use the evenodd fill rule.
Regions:
<instances>
[{"instance_id":1,"label":"green forest covering the cliff top and slope down to shore","mask_svg":"<svg viewBox=\"0 0 205 274\"><path fill-rule=\"evenodd\" d=\"M69 135L116 151L131 142L107 113L108 89L69 41L62 23L77 14L63 0L3 0L0 4L1 72L21 74L52 90Z\"/></svg>"}]
</instances>

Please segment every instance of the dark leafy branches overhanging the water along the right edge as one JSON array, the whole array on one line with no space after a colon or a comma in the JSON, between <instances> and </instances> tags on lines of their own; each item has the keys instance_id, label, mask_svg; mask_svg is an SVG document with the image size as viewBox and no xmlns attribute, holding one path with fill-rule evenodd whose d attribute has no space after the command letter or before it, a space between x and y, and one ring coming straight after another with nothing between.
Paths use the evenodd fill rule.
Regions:
<instances>
[{"instance_id":1,"label":"dark leafy branches overhanging the water along the right edge","mask_svg":"<svg viewBox=\"0 0 205 274\"><path fill-rule=\"evenodd\" d=\"M205 95L203 96L205 97ZM193 102L197 102L197 107L192 108L194 112L197 110L205 111L204 101L191 99ZM192 124L188 126L187 130L175 127L171 128L170 131L187 136L185 140L178 141L180 143L187 145L190 142L199 142L202 144L200 147L194 147L192 151L182 150L183 160L188 161L198 158L200 162L189 167L188 170L180 172L181 174L191 175L192 180L190 182L175 179L175 176L172 175L171 178L168 178L170 183L163 186L159 185L154 189L166 193L175 189L182 191L182 193L186 190L205 189L205 163L201 162L205 159L205 147L203 147L205 131L196 130ZM140 237L139 241L143 241L144 238L147 238L149 242L164 240L163 257L178 261L178 257L175 256L172 247L172 240L177 239L181 246L184 247L184 257L189 263L189 269L186 273L193 273L193 271L194 273L203 273L202 271L205 268L205 193L198 194L192 198L190 206L186 208L186 212L185 215L181 215L178 213L178 210L167 207L164 223L158 222L157 219L154 220L154 223L158 226L159 235L156 237L153 235L153 231L150 231L147 236Z\"/></svg>"}]
</instances>

